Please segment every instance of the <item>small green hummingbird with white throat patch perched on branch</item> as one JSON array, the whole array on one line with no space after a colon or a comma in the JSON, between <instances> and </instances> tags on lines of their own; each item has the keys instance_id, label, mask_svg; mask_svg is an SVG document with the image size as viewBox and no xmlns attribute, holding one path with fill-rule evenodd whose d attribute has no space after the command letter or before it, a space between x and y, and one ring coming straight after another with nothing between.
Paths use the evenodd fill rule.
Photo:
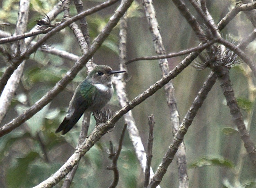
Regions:
<instances>
[{"instance_id":1,"label":"small green hummingbird with white throat patch perched on branch","mask_svg":"<svg viewBox=\"0 0 256 188\"><path fill-rule=\"evenodd\" d=\"M67 114L55 131L66 134L85 111L95 112L101 110L113 95L111 76L125 71L113 71L107 65L97 65L88 76L77 86L69 103Z\"/></svg>"}]
</instances>

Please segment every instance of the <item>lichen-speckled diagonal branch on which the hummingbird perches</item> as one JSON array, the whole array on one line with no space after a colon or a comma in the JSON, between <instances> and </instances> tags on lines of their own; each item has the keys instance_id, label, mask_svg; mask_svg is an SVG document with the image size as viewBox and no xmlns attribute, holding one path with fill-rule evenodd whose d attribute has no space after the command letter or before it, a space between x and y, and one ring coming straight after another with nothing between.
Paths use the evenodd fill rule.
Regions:
<instances>
[{"instance_id":1,"label":"lichen-speckled diagonal branch on which the hummingbird perches","mask_svg":"<svg viewBox=\"0 0 256 188\"><path fill-rule=\"evenodd\" d=\"M124 0L124 2L126 2ZM125 6L130 6L131 1L128 1L129 4L125 4ZM128 8L128 7L127 7ZM122 15L122 14L120 14ZM93 44L92 44L93 45ZM196 55L196 54L195 54ZM170 71L166 76L157 81L155 84L150 86L146 91L142 94L138 95L132 101L128 102L126 106L117 111L111 119L109 119L106 123L99 124L95 126L93 132L89 135L89 137L77 148L74 154L63 164L63 166L56 171L51 177L47 180L43 181L39 185L34 188L48 188L53 187L61 179L63 179L68 172L72 170L72 168L79 162L79 160L84 156L84 154L89 151L91 147L97 142L104 134L106 134L110 129L113 129L115 123L128 111L133 109L135 106L139 105L143 101L145 101L148 97L152 96L159 89L164 87L171 79L176 77L179 73L181 73L187 66L190 65L195 55L191 55L190 58L186 58L179 65L177 65L172 71Z\"/></svg>"}]
</instances>

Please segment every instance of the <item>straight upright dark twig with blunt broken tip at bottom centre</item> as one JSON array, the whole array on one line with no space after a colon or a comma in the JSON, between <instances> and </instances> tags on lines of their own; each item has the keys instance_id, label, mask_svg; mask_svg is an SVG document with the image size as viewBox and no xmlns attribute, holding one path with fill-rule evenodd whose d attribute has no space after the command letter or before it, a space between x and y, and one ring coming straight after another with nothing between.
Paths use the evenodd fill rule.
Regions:
<instances>
[{"instance_id":1,"label":"straight upright dark twig with blunt broken tip at bottom centre","mask_svg":"<svg viewBox=\"0 0 256 188\"><path fill-rule=\"evenodd\" d=\"M149 126L149 133L148 133L148 145L147 145L147 164L145 170L145 178L144 178L144 187L147 187L149 184L150 179L150 166L152 160L152 149L153 149L153 140L154 140L154 115L148 116L148 126Z\"/></svg>"}]
</instances>

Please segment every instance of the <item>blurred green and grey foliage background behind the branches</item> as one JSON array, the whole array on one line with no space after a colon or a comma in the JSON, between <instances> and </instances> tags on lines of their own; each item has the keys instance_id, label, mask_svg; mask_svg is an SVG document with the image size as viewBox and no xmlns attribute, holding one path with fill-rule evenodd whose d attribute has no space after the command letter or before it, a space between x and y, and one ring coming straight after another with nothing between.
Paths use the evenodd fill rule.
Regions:
<instances>
[{"instance_id":1,"label":"blurred green and grey foliage background behind the branches","mask_svg":"<svg viewBox=\"0 0 256 188\"><path fill-rule=\"evenodd\" d=\"M49 12L57 2L56 0L31 0L28 30L35 26L35 20L42 18L44 12ZM99 2L102 1L83 0L84 8L95 6ZM190 3L187 0L184 2L202 24L202 20ZM207 1L207 7L216 23L226 15L234 4L235 1L231 0ZM17 20L18 1L2 0L0 6L0 20L11 23L11 26L2 29L13 32ZM114 4L87 17L91 41L107 23L117 6L118 4ZM172 1L154 1L154 6L167 53L195 47L199 44L193 30ZM70 12L71 16L76 14L73 3L70 6ZM60 21L62 16L63 13L55 21ZM221 34L225 38L240 40L248 36L253 29L245 14L239 13L223 29ZM93 56L95 63L118 69L118 32L119 27L117 26ZM141 1L135 1L129 9L127 35L127 59L156 55ZM82 55L76 38L69 28L63 29L50 38L47 44L79 56ZM246 52L254 61L255 49L256 43L254 41L249 44ZM174 68L184 57L168 59L170 68ZM73 65L74 62L41 51L31 55L30 59L26 61L19 88L1 125L8 123L33 105ZM1 58L0 66L2 74L7 66L3 58ZM127 68L129 100L161 79L162 74L157 60L134 62L129 64ZM199 71L193 66L189 66L173 79L181 121L209 73L210 69ZM249 85L251 81L255 81L255 78L246 76L246 73L248 70L242 63L230 69L230 78L235 96L239 99L245 122L249 122L247 126L250 129L251 138L256 143L256 115L254 111L256 94L253 93L252 87ZM79 137L81 120L75 128L64 136L54 132L65 116L76 86L85 77L86 70L84 68L68 84L66 89L58 94L43 110L19 128L0 138L0 187L35 186L54 173L71 156ZM116 95L112 97L108 107L114 111L120 109ZM152 168L155 171L173 139L164 90L159 90L145 102L135 107L132 112L144 147L147 145L148 137L147 116L153 114L155 117L152 160ZM100 142L83 157L72 187L107 187L111 183L112 171L106 170L106 167L111 164L108 159L107 148L110 140L115 145L118 144L123 124L124 121L119 120L115 129L104 135ZM91 118L89 132L92 131L94 125L95 121ZM190 167L188 168L190 187L217 188L223 187L223 185L238 187L238 182L243 185L256 180L255 169L246 155L243 143L231 120L229 108L218 81L209 92L185 135L184 143L188 167ZM144 175L127 133L118 160L118 169L120 171L118 187L143 186ZM178 187L176 158L168 168L160 185L161 187ZM61 184L56 187L61 187Z\"/></svg>"}]
</instances>

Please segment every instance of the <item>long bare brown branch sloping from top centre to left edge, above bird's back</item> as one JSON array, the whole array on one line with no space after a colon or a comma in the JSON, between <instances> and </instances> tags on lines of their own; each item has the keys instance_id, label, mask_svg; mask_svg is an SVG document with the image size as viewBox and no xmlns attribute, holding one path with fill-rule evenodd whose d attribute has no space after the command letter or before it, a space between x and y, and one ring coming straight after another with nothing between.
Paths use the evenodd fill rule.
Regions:
<instances>
[{"instance_id":1,"label":"long bare brown branch sloping from top centre to left edge, above bird's back","mask_svg":"<svg viewBox=\"0 0 256 188\"><path fill-rule=\"evenodd\" d=\"M53 98L60 93L65 86L72 81L75 75L83 68L86 62L92 57L92 55L97 51L97 49L101 46L103 41L108 37L110 31L117 25L118 20L122 17L125 11L130 6L132 0L126 0L120 4L115 14L110 18L107 25L102 29L97 38L93 41L93 44L90 46L88 51L75 63L75 65L71 68L70 71L66 73L66 75L39 101L37 101L33 106L31 106L28 110L22 113L17 118L13 119L8 124L2 126L0 128L0 137L13 129L20 126L26 120L31 118L35 113L41 110L46 104L48 104ZM109 2L108 2L109 3ZM106 6L106 4L104 4ZM94 9L94 8L93 8ZM91 9L90 9L91 10ZM68 20L67 20L68 21ZM56 29L56 28L55 28ZM46 34L47 35L47 34Z\"/></svg>"}]
</instances>

